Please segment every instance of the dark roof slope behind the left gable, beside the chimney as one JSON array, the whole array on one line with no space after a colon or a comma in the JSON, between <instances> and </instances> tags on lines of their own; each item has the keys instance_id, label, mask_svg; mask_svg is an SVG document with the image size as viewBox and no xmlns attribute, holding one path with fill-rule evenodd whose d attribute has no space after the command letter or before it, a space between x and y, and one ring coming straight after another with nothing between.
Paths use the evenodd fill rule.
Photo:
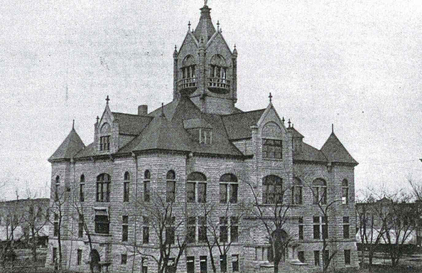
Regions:
<instances>
[{"instance_id":1,"label":"dark roof slope behind the left gable, beside the chimney","mask_svg":"<svg viewBox=\"0 0 422 273\"><path fill-rule=\"evenodd\" d=\"M119 134L138 135L151 121L149 116L111 112L119 120Z\"/></svg>"}]
</instances>

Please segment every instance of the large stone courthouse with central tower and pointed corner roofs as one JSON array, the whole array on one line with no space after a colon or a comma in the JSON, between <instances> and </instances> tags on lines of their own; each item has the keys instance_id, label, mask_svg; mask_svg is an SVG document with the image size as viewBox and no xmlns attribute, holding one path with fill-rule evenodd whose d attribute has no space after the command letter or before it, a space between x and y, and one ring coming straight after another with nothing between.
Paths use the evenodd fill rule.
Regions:
<instances>
[{"instance_id":1,"label":"large stone courthouse with central tower and pointed corner roofs","mask_svg":"<svg viewBox=\"0 0 422 273\"><path fill-rule=\"evenodd\" d=\"M176 233L184 238L189 230L193 236L177 272L211 272L201 206L215 204L224 214L227 206L254 203L255 192L259 204L271 209L284 189L288 190L283 202L290 205L284 230L294 240L280 271L311 272L322 267L326 221L311 189L322 197L322 207L338 201L328 216L327 250L336 253L331 264L357 266L357 162L333 131L315 132L328 136L321 149L303 142L304 136L290 121L286 124L280 118L271 94L265 109L236 108L238 96L249 92L237 90L241 55L227 45L210 11L207 5L200 8L197 27L191 29L189 23L183 43L174 50L172 101L150 112L147 105L139 105L134 115L113 112L113 100L119 98L107 96L103 114L96 122L92 117L94 141L85 145L72 128L49 158L51 206L63 198L60 234L66 268L89 271L89 254L95 253L98 265L109 272L157 272L153 256L160 256L159 240L149 223L152 219L139 211L154 192L162 192L166 202L174 203L177 217L189 218ZM81 207L91 244L81 231L77 213ZM53 211L50 215L51 222L58 222L58 215ZM273 271L268 235L256 218L228 217L225 225L224 240L231 246L226 256L214 248L217 272ZM251 228L245 231L245 227ZM175 262L177 242L174 248L168 271ZM47 266L54 265L57 251L57 231L50 229Z\"/></svg>"}]
</instances>

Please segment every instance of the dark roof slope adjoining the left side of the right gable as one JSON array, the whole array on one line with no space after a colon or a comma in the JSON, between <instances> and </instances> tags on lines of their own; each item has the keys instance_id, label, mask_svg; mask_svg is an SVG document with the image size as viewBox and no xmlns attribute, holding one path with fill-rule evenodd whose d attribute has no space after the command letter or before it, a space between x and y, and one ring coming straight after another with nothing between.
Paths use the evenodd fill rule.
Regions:
<instances>
[{"instance_id":1,"label":"dark roof slope adjoining the left side of the right gable","mask_svg":"<svg viewBox=\"0 0 422 273\"><path fill-rule=\"evenodd\" d=\"M222 116L229 139L244 139L252 137L252 125L257 125L265 109L240 112Z\"/></svg>"}]
</instances>

